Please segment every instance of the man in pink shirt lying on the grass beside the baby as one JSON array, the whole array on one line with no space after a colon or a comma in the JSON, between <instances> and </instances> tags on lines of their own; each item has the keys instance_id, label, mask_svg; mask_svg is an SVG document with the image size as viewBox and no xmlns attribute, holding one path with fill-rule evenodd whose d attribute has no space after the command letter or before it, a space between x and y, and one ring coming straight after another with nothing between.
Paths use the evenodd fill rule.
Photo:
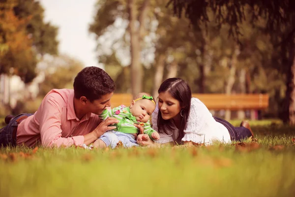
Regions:
<instances>
[{"instance_id":1,"label":"man in pink shirt lying on the grass beside the baby","mask_svg":"<svg viewBox=\"0 0 295 197\"><path fill-rule=\"evenodd\" d=\"M86 67L74 80L74 90L53 89L34 114L12 118L0 130L0 146L44 147L89 145L118 123L108 118L100 123L98 115L111 106L115 91L112 78L101 68ZM100 123L100 124L99 124Z\"/></svg>"}]
</instances>

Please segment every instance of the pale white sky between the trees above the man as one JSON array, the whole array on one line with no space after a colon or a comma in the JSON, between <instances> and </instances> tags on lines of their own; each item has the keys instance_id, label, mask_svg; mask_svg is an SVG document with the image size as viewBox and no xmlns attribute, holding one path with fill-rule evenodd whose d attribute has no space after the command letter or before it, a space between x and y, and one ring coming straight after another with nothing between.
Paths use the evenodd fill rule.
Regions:
<instances>
[{"instance_id":1,"label":"pale white sky between the trees above the man","mask_svg":"<svg viewBox=\"0 0 295 197\"><path fill-rule=\"evenodd\" d=\"M100 66L94 51L94 35L88 32L96 0L39 1L45 9L45 21L59 27L59 53L80 60L84 66Z\"/></svg>"}]
</instances>

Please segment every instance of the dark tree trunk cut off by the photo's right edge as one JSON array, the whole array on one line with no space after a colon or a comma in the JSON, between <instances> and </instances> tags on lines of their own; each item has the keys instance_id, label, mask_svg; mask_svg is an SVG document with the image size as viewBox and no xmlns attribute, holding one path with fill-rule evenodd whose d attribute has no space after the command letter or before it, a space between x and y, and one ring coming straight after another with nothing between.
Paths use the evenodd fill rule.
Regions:
<instances>
[{"instance_id":1,"label":"dark tree trunk cut off by the photo's right edge","mask_svg":"<svg viewBox=\"0 0 295 197\"><path fill-rule=\"evenodd\" d=\"M286 99L287 99L287 111L288 111L288 122L290 125L295 125L295 43L290 51L289 56L289 72L287 78L287 90L286 90Z\"/></svg>"}]
</instances>

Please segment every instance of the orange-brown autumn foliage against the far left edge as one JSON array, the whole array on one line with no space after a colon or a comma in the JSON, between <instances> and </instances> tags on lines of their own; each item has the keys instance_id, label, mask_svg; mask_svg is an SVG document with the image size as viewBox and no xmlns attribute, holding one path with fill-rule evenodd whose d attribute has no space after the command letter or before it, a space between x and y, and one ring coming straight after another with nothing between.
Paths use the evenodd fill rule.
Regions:
<instances>
[{"instance_id":1,"label":"orange-brown autumn foliage against the far left edge","mask_svg":"<svg viewBox=\"0 0 295 197\"><path fill-rule=\"evenodd\" d=\"M26 26L30 17L19 19L12 6L0 11L0 73L18 74L25 82L31 81L36 73L31 67L36 65L32 51L32 40L28 37Z\"/></svg>"}]
</instances>

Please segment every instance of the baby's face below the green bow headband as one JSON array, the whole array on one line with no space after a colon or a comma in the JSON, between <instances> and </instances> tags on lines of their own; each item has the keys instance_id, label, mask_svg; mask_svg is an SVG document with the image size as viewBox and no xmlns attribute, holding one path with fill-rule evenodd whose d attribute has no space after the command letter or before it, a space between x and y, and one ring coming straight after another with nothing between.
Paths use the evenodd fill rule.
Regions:
<instances>
[{"instance_id":1,"label":"baby's face below the green bow headband","mask_svg":"<svg viewBox=\"0 0 295 197\"><path fill-rule=\"evenodd\" d=\"M156 105L149 99L141 99L130 104L130 112L139 122L148 122L151 113L155 110Z\"/></svg>"}]
</instances>

